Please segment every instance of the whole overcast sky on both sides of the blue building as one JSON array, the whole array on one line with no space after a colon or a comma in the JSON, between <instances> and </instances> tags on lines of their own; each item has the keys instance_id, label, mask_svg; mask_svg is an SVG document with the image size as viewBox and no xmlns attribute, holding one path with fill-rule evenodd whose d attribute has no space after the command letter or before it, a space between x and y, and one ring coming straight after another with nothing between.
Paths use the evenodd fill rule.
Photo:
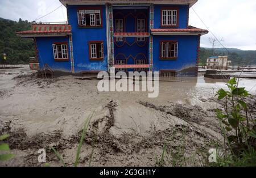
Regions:
<instances>
[{"instance_id":1,"label":"whole overcast sky on both sides of the blue building","mask_svg":"<svg viewBox=\"0 0 256 178\"><path fill-rule=\"evenodd\" d=\"M0 17L18 21L32 21L59 7L59 0L1 0ZM226 48L256 50L256 0L199 0L192 7L207 27ZM207 29L190 10L189 24ZM61 6L52 14L38 20L41 22L65 22L67 13ZM201 46L210 47L211 33L201 38ZM218 45L217 47L221 47Z\"/></svg>"}]
</instances>

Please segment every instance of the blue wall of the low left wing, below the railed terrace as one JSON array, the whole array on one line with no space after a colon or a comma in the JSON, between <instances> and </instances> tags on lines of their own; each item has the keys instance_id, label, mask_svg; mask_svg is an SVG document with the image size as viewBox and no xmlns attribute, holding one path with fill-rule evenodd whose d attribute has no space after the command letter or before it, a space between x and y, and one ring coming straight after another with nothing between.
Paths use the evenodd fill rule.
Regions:
<instances>
[{"instance_id":1,"label":"blue wall of the low left wing, below the railed terrace","mask_svg":"<svg viewBox=\"0 0 256 178\"><path fill-rule=\"evenodd\" d=\"M57 62L53 57L52 44L55 42L68 42L68 37L37 37L36 44L39 51L40 69L47 63L52 70L60 70L64 72L71 72L70 55L68 53L69 61ZM69 42L68 42L69 48Z\"/></svg>"}]
</instances>

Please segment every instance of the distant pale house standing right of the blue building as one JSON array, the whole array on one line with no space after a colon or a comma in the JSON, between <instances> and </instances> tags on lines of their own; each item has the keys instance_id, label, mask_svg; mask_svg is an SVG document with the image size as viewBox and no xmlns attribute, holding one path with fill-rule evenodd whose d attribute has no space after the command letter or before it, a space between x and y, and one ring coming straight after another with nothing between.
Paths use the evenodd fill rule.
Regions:
<instances>
[{"instance_id":1,"label":"distant pale house standing right of the blue building","mask_svg":"<svg viewBox=\"0 0 256 178\"><path fill-rule=\"evenodd\" d=\"M207 58L207 69L228 69L231 61L228 61L228 56L213 56Z\"/></svg>"}]
</instances>

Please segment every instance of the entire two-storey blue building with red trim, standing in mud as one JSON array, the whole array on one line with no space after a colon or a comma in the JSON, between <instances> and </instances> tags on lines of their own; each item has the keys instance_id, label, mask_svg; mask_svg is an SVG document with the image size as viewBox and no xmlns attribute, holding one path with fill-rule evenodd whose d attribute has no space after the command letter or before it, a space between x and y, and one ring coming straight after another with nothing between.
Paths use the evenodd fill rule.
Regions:
<instances>
[{"instance_id":1,"label":"entire two-storey blue building with red trim, standing in mud","mask_svg":"<svg viewBox=\"0 0 256 178\"><path fill-rule=\"evenodd\" d=\"M188 25L197 0L60 0L67 24L34 23L17 32L35 41L40 69L54 73L159 71L160 76L197 75L200 36Z\"/></svg>"}]
</instances>

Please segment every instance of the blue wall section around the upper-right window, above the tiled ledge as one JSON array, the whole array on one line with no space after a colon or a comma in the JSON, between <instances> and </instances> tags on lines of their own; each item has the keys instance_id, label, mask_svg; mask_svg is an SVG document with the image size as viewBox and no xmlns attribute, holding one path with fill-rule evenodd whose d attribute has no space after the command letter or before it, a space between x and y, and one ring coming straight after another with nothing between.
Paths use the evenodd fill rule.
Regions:
<instances>
[{"instance_id":1,"label":"blue wall section around the upper-right window, above the tiled ledge","mask_svg":"<svg viewBox=\"0 0 256 178\"><path fill-rule=\"evenodd\" d=\"M188 22L188 5L154 5L154 28L161 28L161 9L163 7L178 7L179 8L179 27L187 28Z\"/></svg>"}]
</instances>

